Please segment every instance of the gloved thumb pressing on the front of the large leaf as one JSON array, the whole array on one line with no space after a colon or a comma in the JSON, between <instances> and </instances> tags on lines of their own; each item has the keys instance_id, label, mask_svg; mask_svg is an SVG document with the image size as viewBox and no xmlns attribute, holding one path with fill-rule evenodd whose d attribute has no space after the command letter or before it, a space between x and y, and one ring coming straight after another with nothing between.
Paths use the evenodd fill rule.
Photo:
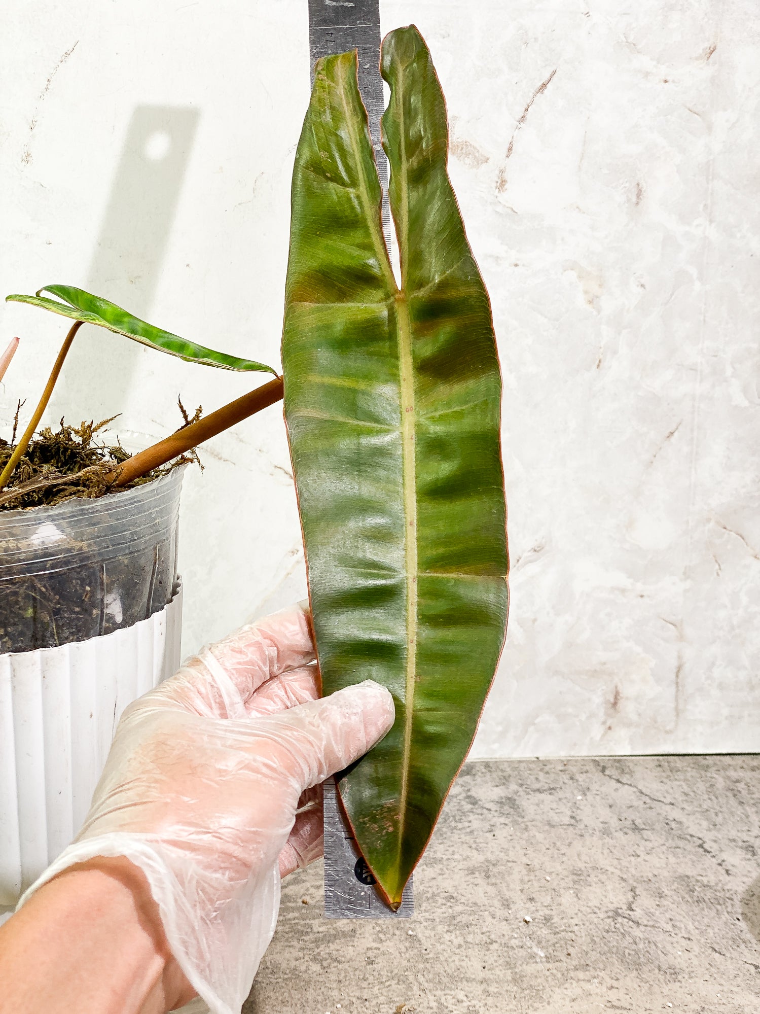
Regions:
<instances>
[{"instance_id":1,"label":"gloved thumb pressing on the front of the large leaf","mask_svg":"<svg viewBox=\"0 0 760 1014\"><path fill-rule=\"evenodd\" d=\"M276 744L281 763L303 792L358 760L383 738L394 718L390 693L366 679L264 718L256 731Z\"/></svg>"}]
</instances>

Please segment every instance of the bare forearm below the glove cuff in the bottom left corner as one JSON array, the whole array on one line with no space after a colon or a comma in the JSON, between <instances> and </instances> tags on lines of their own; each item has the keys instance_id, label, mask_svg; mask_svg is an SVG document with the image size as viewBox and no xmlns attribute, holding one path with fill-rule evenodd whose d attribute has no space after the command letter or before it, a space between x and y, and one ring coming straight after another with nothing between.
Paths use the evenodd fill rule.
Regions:
<instances>
[{"instance_id":1,"label":"bare forearm below the glove cuff in the bottom left corner","mask_svg":"<svg viewBox=\"0 0 760 1014\"><path fill-rule=\"evenodd\" d=\"M126 859L51 880L0 928L0 1011L164 1014L193 996L148 883Z\"/></svg>"}]
</instances>

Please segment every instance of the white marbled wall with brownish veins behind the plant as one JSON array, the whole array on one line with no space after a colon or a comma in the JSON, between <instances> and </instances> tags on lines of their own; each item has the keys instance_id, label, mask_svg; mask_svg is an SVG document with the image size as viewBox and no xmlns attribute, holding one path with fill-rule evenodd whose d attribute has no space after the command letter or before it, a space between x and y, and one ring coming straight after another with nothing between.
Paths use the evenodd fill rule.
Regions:
<instances>
[{"instance_id":1,"label":"white marbled wall with brownish veins behind the plant","mask_svg":"<svg viewBox=\"0 0 760 1014\"><path fill-rule=\"evenodd\" d=\"M758 78L744 0L381 0L414 21L491 294L505 381L512 613L476 756L760 748ZM279 362L306 5L16 4L0 89L2 291L90 284ZM21 350L0 423L62 324ZM82 332L48 420L244 377ZM3 431L4 432L4 431ZM182 506L184 648L304 594L277 409L223 434Z\"/></svg>"}]
</instances>

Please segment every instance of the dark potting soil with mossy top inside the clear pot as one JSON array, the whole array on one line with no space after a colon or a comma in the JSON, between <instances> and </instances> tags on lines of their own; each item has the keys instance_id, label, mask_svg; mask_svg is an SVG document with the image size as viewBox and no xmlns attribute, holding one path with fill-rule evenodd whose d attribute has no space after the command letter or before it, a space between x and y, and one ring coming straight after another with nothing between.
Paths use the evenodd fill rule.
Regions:
<instances>
[{"instance_id":1,"label":"dark potting soil with mossy top inside the clear pot","mask_svg":"<svg viewBox=\"0 0 760 1014\"><path fill-rule=\"evenodd\" d=\"M106 422L72 427L62 420L57 432L43 430L29 443L8 487L0 493L0 653L57 647L109 634L147 619L171 600L176 578L176 519L173 524L167 522L166 497L159 498L163 507L143 508L143 514L138 508L134 531L125 522L127 501L122 498L127 491L153 483L179 464L198 461L197 455L193 451L116 490L107 477L113 465L130 454L120 443L106 445L95 438ZM12 451L13 445L0 439L0 468ZM18 495L9 498L14 491ZM177 484L167 495L176 499L178 492ZM98 509L81 512L74 498L102 498L103 502ZM65 501L72 501L72 509L67 509ZM4 566L16 558L13 554L18 555L21 545L12 533L12 525L8 527L11 518L23 520L31 508L55 505L62 505L61 517L71 518L71 523L64 520L35 526L32 539L39 537L40 553L33 568ZM49 512L45 513L48 516ZM56 511L54 517L58 514ZM75 521L77 515L81 517ZM30 515L30 521L32 516L37 514ZM46 528L51 527L66 535L69 559L65 565L55 546L47 551ZM102 550L95 547L103 545L103 533L110 528L119 528L117 541L124 545L107 548L105 559ZM59 535L61 532L54 540ZM29 573L32 569L34 573Z\"/></svg>"}]
</instances>

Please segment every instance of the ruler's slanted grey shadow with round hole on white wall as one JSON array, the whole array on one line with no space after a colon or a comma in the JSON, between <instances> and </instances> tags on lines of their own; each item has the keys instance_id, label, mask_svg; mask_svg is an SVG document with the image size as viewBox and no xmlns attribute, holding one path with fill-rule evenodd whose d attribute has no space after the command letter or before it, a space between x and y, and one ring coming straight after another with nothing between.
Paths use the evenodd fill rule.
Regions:
<instances>
[{"instance_id":1,"label":"ruler's slanted grey shadow with round hole on white wall","mask_svg":"<svg viewBox=\"0 0 760 1014\"><path fill-rule=\"evenodd\" d=\"M139 105L132 115L110 197L85 280L62 279L109 299L138 317L150 314L161 276L200 112L185 106ZM151 321L171 330L171 321ZM66 363L58 419L121 412L142 348L95 328L84 328ZM93 383L92 366L107 385Z\"/></svg>"}]
</instances>

